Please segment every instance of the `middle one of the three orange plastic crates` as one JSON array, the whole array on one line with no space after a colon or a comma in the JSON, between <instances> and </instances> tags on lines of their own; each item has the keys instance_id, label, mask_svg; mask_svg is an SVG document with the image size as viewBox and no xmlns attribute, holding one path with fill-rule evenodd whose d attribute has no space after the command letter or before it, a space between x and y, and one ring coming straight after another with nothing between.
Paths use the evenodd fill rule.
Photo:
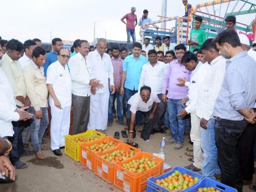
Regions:
<instances>
[{"instance_id":1,"label":"middle one of the three orange plastic crates","mask_svg":"<svg viewBox=\"0 0 256 192\"><path fill-rule=\"evenodd\" d=\"M133 148L129 144L125 143L121 143L116 148L109 149L106 152L98 152L95 155L95 174L101 177L101 179L107 181L108 183L113 183L115 163L108 162L107 160L102 158L101 155L105 155L107 153L111 153L117 150L133 151L135 152L135 155L138 154L138 152L141 152L140 149Z\"/></svg>"}]
</instances>

